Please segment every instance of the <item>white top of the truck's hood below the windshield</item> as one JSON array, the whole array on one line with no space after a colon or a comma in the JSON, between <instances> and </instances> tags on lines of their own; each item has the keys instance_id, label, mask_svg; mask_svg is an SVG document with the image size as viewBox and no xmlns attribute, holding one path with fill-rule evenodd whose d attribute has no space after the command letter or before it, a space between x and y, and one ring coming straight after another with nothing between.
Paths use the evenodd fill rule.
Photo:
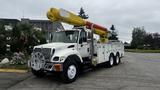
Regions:
<instances>
[{"instance_id":1,"label":"white top of the truck's hood below the windshield","mask_svg":"<svg viewBox=\"0 0 160 90\"><path fill-rule=\"evenodd\" d=\"M47 43L35 46L34 48L61 48L61 47L68 47L70 45L76 45L76 43Z\"/></svg>"}]
</instances>

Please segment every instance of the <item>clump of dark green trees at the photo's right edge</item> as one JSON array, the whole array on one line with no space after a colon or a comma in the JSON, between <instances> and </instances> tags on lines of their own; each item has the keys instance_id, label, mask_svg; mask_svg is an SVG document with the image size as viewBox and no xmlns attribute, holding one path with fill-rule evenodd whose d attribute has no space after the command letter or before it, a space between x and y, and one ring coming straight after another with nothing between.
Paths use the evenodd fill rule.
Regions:
<instances>
[{"instance_id":1,"label":"clump of dark green trees at the photo's right edge","mask_svg":"<svg viewBox=\"0 0 160 90\"><path fill-rule=\"evenodd\" d=\"M144 27L134 28L131 46L138 49L160 49L160 34L147 33Z\"/></svg>"}]
</instances>

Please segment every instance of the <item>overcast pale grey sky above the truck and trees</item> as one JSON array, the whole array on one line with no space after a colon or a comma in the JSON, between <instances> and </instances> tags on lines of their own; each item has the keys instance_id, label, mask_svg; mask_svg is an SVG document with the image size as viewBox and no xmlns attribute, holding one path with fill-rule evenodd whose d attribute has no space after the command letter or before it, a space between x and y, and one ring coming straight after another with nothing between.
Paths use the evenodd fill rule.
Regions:
<instances>
[{"instance_id":1,"label":"overcast pale grey sky above the truck and trees","mask_svg":"<svg viewBox=\"0 0 160 90\"><path fill-rule=\"evenodd\" d=\"M83 7L89 21L108 29L114 24L123 42L131 41L134 27L160 33L160 0L0 0L0 18L47 19L51 7L74 13Z\"/></svg>"}]
</instances>

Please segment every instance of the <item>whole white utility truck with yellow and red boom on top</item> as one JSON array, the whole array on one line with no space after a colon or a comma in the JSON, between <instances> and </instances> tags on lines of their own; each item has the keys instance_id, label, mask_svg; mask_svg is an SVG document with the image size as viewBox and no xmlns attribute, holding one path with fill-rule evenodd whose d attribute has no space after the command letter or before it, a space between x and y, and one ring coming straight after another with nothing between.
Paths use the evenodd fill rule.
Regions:
<instances>
[{"instance_id":1,"label":"whole white utility truck with yellow and red boom on top","mask_svg":"<svg viewBox=\"0 0 160 90\"><path fill-rule=\"evenodd\" d=\"M75 27L72 30L53 32L51 43L34 47L28 64L35 76L41 77L48 72L55 72L60 74L64 82L70 83L75 81L78 74L84 69L102 63L108 67L120 63L120 58L124 55L122 42L107 40L104 35L108 31L101 32L103 28L96 24L87 24L90 27L77 24L69 18L77 19L78 16L63 9L56 9L59 12L56 10L53 12L52 9L48 12L49 15L47 14L51 21L54 21L50 17L54 13L56 18L59 17L59 21L66 23L69 21L69 24L75 25ZM70 15L70 17L65 15ZM94 39L94 33L100 35L100 40Z\"/></svg>"}]
</instances>

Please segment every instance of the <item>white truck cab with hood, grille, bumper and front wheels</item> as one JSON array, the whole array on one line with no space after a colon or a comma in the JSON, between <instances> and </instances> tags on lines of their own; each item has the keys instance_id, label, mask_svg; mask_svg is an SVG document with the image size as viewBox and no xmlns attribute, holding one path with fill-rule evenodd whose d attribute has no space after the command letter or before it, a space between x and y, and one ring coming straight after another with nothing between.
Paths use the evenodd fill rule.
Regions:
<instances>
[{"instance_id":1,"label":"white truck cab with hood, grille, bumper and front wheels","mask_svg":"<svg viewBox=\"0 0 160 90\"><path fill-rule=\"evenodd\" d=\"M33 74L41 77L47 72L61 72L63 73L62 76L65 77L68 63L74 64L70 72L78 71L79 66L83 63L82 58L89 58L90 56L87 32L84 29L76 29L56 31L52 35L53 38L50 43L35 46L33 49L29 61ZM78 74L76 71L74 75L70 73L70 76L75 78ZM74 81L72 77L65 78L65 81Z\"/></svg>"}]
</instances>

